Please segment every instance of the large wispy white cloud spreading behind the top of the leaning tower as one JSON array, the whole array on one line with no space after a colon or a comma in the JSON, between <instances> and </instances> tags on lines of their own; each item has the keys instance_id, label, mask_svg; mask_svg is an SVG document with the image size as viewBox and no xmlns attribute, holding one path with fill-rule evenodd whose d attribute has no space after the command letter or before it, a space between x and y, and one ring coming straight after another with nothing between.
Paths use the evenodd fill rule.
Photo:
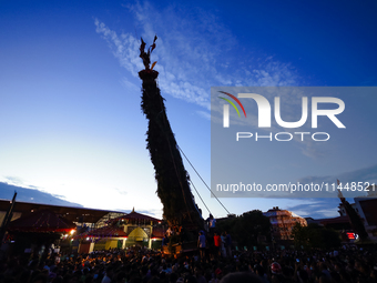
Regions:
<instances>
[{"instance_id":1,"label":"large wispy white cloud spreading behind the top of the leaning tower","mask_svg":"<svg viewBox=\"0 0 377 283\"><path fill-rule=\"evenodd\" d=\"M215 13L173 6L157 11L149 2L136 2L126 9L146 42L159 36L152 61L157 61L155 69L160 72L163 93L208 111L212 85L297 84L297 74L289 63L265 54L255 59L247 51L240 53L240 42ZM143 69L139 58L140 39L133 31L111 30L99 19L94 23L121 65L137 77Z\"/></svg>"}]
</instances>

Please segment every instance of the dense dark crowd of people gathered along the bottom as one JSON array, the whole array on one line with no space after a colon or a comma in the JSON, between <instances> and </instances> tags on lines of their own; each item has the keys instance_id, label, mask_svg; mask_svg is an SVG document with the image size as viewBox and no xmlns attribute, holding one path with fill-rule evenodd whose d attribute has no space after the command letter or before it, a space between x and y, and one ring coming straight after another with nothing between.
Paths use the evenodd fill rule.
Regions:
<instances>
[{"instance_id":1,"label":"dense dark crowd of people gathered along the bottom","mask_svg":"<svg viewBox=\"0 0 377 283\"><path fill-rule=\"evenodd\" d=\"M265 251L170 256L147 249L8 257L1 283L377 282L376 250Z\"/></svg>"}]
</instances>

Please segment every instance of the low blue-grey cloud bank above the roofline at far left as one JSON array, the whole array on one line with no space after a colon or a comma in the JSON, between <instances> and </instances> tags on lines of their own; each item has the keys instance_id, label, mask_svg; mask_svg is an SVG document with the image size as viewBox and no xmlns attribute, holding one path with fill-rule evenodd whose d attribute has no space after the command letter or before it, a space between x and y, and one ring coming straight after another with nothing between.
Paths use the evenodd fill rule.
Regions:
<instances>
[{"instance_id":1,"label":"low blue-grey cloud bank above the roofline at far left","mask_svg":"<svg viewBox=\"0 0 377 283\"><path fill-rule=\"evenodd\" d=\"M16 201L20 201L20 202L31 202L31 203L42 203L42 204L52 204L52 205L62 205L62 206L83 208L83 205L81 205L79 203L64 201L62 199L59 199L58 195L41 192L37 189L27 189L27 188L11 185L11 184L0 182L0 199L11 200L13 198L14 191L17 191Z\"/></svg>"}]
</instances>

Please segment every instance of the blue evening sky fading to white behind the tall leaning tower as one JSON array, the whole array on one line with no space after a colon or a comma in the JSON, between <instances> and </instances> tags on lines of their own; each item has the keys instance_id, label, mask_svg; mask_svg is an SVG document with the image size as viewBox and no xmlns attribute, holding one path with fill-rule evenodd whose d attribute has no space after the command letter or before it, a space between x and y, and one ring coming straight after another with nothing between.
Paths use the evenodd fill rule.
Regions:
<instances>
[{"instance_id":1,"label":"blue evening sky fading to white behind the tall leaning tower","mask_svg":"<svg viewBox=\"0 0 377 283\"><path fill-rule=\"evenodd\" d=\"M0 181L161 216L140 108L140 37L147 44L159 37L152 60L172 129L210 184L211 87L375 87L376 12L375 1L1 1ZM367 102L354 108L368 111L360 132L370 139L342 156L339 175L375 172L375 100ZM185 166L213 214L224 216ZM338 201L222 202L236 214L278 205L335 216Z\"/></svg>"}]
</instances>

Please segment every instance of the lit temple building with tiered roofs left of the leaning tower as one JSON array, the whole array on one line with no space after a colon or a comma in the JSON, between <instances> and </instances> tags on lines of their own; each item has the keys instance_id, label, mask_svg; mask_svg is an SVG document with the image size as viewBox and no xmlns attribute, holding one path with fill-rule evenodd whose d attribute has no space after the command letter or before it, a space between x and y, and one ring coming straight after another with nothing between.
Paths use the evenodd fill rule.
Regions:
<instances>
[{"instance_id":1,"label":"lit temple building with tiered roofs left of the leaning tower","mask_svg":"<svg viewBox=\"0 0 377 283\"><path fill-rule=\"evenodd\" d=\"M3 222L10 203L0 200L0 223ZM23 237L18 241L26 233L37 235L35 239L55 233L58 239L60 237L54 241L55 246L59 247L57 252L60 250L88 253L134 245L161 249L167 229L161 220L134 210L124 213L27 202L16 202L10 219L11 222L7 228L9 245L19 245L21 241L24 247L30 247L32 243ZM31 239L30 235L27 239Z\"/></svg>"}]
</instances>

